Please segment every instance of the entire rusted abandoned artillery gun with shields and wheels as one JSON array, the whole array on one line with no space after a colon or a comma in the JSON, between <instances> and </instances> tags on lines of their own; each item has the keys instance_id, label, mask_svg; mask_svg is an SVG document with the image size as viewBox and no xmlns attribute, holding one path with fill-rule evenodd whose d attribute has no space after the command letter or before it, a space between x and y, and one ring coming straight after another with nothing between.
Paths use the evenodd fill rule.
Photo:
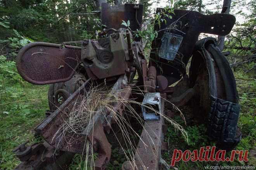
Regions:
<instances>
[{"instance_id":1,"label":"entire rusted abandoned artillery gun with shields and wheels","mask_svg":"<svg viewBox=\"0 0 256 170\"><path fill-rule=\"evenodd\" d=\"M106 168L111 156L107 134L111 134L115 123L106 108L99 108L90 119L78 136L80 143L63 143L55 136L74 101L85 95L92 82L111 85L110 93L125 88L121 95L127 99L134 88L139 88L144 96L133 99L152 105L162 113L156 114L145 107L138 109L142 112L144 127L133 163L124 162L124 170L161 168L159 158L161 151L166 149L163 115L164 110L171 107L164 101L178 107L191 103L194 114L206 121L209 137L218 142L219 148L229 151L237 145L241 138L237 129L240 107L234 75L227 59L216 47L215 39L208 37L198 41L202 32L227 35L234 26L235 17L174 10L175 15L170 14L172 19L163 16L166 24L155 25L158 36L152 42L147 64L142 40L131 34L141 27L142 9L140 4L110 7L102 3L101 19L106 28L99 35L106 37L81 41L81 47L35 42L21 49L17 70L30 83L50 84L50 112L35 128L45 142L31 146L24 143L14 150L22 161L16 169L65 168L75 153L84 152L81 143L85 140L90 141L97 153L95 168ZM157 13L161 14L162 10L157 8ZM131 30L121 25L122 20L130 21ZM134 78L136 73L137 79ZM171 87L175 82L178 83ZM113 107L122 114L122 104L114 102ZM145 149L142 145L152 147Z\"/></svg>"}]
</instances>

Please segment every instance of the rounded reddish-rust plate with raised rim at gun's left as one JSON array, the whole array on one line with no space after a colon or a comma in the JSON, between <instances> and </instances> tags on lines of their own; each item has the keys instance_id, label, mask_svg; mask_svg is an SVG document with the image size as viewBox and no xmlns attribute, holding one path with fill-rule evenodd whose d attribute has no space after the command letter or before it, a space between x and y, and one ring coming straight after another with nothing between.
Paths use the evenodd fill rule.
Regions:
<instances>
[{"instance_id":1,"label":"rounded reddish-rust plate with raised rim at gun's left","mask_svg":"<svg viewBox=\"0 0 256 170\"><path fill-rule=\"evenodd\" d=\"M81 58L81 48L47 42L33 42L17 55L19 74L30 83L43 85L69 80Z\"/></svg>"}]
</instances>

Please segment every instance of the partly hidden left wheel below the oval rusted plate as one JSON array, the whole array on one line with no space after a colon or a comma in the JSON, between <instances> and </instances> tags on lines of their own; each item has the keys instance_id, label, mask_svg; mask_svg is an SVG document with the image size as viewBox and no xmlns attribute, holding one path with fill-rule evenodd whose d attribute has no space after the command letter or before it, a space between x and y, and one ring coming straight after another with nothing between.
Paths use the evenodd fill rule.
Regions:
<instances>
[{"instance_id":1,"label":"partly hidden left wheel below the oval rusted plate","mask_svg":"<svg viewBox=\"0 0 256 170\"><path fill-rule=\"evenodd\" d=\"M56 110L85 81L86 77L82 73L75 73L67 82L50 84L48 90L50 110Z\"/></svg>"}]
</instances>

